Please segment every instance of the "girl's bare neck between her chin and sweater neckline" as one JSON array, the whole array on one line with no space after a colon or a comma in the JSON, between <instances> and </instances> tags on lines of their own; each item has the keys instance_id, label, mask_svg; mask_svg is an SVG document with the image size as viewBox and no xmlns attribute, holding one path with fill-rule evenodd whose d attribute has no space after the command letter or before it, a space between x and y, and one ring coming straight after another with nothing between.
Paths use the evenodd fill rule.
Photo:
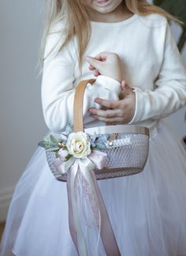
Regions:
<instances>
[{"instance_id":1,"label":"girl's bare neck between her chin and sweater neckline","mask_svg":"<svg viewBox=\"0 0 186 256\"><path fill-rule=\"evenodd\" d=\"M99 13L92 9L87 9L90 20L97 22L117 22L125 21L129 17L132 17L132 14L125 6L124 3L121 3L112 13Z\"/></svg>"}]
</instances>

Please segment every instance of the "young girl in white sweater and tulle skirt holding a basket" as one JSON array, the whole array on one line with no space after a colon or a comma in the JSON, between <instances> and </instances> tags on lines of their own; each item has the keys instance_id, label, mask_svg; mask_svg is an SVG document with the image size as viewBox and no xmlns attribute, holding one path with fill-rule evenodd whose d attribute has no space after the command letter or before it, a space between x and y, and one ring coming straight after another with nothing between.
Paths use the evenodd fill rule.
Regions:
<instances>
[{"instance_id":1,"label":"young girl in white sweater and tulle skirt holding a basket","mask_svg":"<svg viewBox=\"0 0 186 256\"><path fill-rule=\"evenodd\" d=\"M75 87L92 77L85 126L150 128L144 170L99 181L122 256L186 255L186 152L160 121L186 104L186 74L167 18L142 0L50 1L42 82L50 130L73 125ZM77 255L68 222L66 184L54 179L39 148L13 194L1 256ZM102 244L95 248L87 235L88 255L106 255Z\"/></svg>"}]
</instances>

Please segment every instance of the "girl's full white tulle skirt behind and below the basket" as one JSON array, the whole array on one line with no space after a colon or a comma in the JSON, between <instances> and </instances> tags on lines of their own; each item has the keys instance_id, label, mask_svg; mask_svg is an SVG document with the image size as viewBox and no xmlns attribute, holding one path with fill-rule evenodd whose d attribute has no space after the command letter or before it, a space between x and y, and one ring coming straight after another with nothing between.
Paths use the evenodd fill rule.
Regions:
<instances>
[{"instance_id":1,"label":"girl's full white tulle skirt behind and below the basket","mask_svg":"<svg viewBox=\"0 0 186 256\"><path fill-rule=\"evenodd\" d=\"M121 256L186 255L186 150L163 122L143 172L98 183ZM13 194L0 255L76 256L68 214L66 184L39 148ZM98 229L84 233L88 256L106 256L101 241L96 250Z\"/></svg>"}]
</instances>

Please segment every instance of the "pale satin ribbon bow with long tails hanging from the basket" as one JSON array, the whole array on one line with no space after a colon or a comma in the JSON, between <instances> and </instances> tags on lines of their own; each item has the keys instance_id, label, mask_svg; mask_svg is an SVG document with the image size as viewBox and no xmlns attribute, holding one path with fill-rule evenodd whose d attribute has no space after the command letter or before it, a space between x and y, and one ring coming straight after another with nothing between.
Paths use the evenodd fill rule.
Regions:
<instances>
[{"instance_id":1,"label":"pale satin ribbon bow with long tails hanging from the basket","mask_svg":"<svg viewBox=\"0 0 186 256\"><path fill-rule=\"evenodd\" d=\"M108 256L120 256L120 251L117 246L117 241L113 234L113 228L110 224L110 219L106 211L106 206L102 199L101 191L97 180L95 179L94 169L102 169L106 162L106 153L100 151L92 151L89 156L85 159L73 158L69 163L61 162L58 160L56 162L55 168L60 171L65 171L68 168L67 175L67 191L68 191L68 201L69 201L69 230L75 244L76 250L80 256L87 256L87 246L84 240L84 235L80 228L80 220L77 214L76 196L75 196L75 186L76 186L76 175L80 171L87 183L91 187L91 191L95 196L95 201L97 205L97 212L99 213L99 231L102 238L102 243L105 247L106 254ZM65 164L65 166L64 166ZM84 186L82 184L82 186ZM93 206L92 206L93 207Z\"/></svg>"}]
</instances>

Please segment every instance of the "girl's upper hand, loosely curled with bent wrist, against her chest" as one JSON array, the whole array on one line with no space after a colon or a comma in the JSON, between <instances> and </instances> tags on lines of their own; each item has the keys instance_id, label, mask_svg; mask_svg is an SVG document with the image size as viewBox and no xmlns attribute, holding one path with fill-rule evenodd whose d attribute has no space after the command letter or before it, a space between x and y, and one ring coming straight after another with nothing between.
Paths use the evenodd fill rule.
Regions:
<instances>
[{"instance_id":1,"label":"girl's upper hand, loosely curled with bent wrist, against her chest","mask_svg":"<svg viewBox=\"0 0 186 256\"><path fill-rule=\"evenodd\" d=\"M89 70L94 70L95 77L102 74L117 81L122 81L121 60L117 54L102 52L94 58L87 57L87 62L90 64Z\"/></svg>"}]
</instances>

